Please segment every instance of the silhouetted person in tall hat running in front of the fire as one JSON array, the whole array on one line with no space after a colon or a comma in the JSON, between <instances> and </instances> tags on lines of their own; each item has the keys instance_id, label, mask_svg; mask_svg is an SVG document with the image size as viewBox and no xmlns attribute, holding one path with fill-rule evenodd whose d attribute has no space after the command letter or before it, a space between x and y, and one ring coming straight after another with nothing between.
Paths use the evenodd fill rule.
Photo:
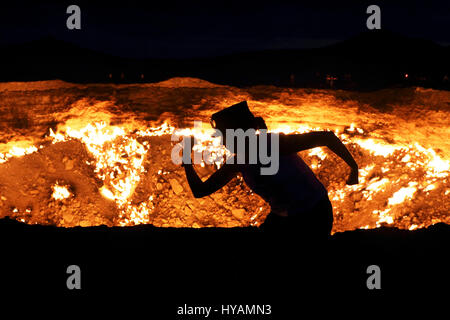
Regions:
<instances>
[{"instance_id":1,"label":"silhouetted person in tall hat running in front of the fire","mask_svg":"<svg viewBox=\"0 0 450 320\"><path fill-rule=\"evenodd\" d=\"M254 117L245 101L213 114L211 124L222 132L224 144L226 129L266 129L264 120ZM270 135L267 134L269 152ZM256 164L249 164L248 142L249 139L244 164L238 164L237 161L234 164L225 163L204 182L191 164L183 164L194 196L199 198L210 195L240 173L247 186L271 207L261 229L287 231L307 237L328 237L333 225L333 209L327 190L297 153L315 147L328 147L350 166L347 184L357 184L358 166L339 138L331 131L280 134L279 168L273 175L261 174L260 169L264 165L259 160Z\"/></svg>"}]
</instances>

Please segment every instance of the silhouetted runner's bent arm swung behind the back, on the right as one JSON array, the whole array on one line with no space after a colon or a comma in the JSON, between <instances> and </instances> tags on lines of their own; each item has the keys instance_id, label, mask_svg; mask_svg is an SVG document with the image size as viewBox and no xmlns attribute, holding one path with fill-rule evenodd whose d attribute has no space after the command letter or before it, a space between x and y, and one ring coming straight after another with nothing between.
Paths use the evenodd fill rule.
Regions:
<instances>
[{"instance_id":1,"label":"silhouetted runner's bent arm swung behind the back, on the right","mask_svg":"<svg viewBox=\"0 0 450 320\"><path fill-rule=\"evenodd\" d=\"M351 168L347 184L358 183L358 164L332 131L315 131L304 134L280 135L280 153L290 154L316 147L328 147Z\"/></svg>"}]
</instances>

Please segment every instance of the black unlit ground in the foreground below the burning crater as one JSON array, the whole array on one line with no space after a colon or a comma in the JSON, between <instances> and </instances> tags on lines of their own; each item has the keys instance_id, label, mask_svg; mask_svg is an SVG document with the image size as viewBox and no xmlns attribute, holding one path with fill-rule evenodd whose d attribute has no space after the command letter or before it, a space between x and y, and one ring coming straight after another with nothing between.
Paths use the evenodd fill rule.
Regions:
<instances>
[{"instance_id":1,"label":"black unlit ground in the foreground below the burning crater","mask_svg":"<svg viewBox=\"0 0 450 320\"><path fill-rule=\"evenodd\" d=\"M177 318L184 304L271 304L272 315L262 318L303 318L291 316L311 303L320 306L318 312L338 301L350 309L359 300L385 297L398 304L405 294L442 295L450 285L450 226L442 223L416 231L338 233L318 244L248 228L64 229L7 218L0 220L0 241L2 290L16 301L97 303L107 296L100 306L145 306L157 319L203 318ZM81 268L81 290L66 288L72 264ZM381 290L366 287L372 264L381 269Z\"/></svg>"}]
</instances>

